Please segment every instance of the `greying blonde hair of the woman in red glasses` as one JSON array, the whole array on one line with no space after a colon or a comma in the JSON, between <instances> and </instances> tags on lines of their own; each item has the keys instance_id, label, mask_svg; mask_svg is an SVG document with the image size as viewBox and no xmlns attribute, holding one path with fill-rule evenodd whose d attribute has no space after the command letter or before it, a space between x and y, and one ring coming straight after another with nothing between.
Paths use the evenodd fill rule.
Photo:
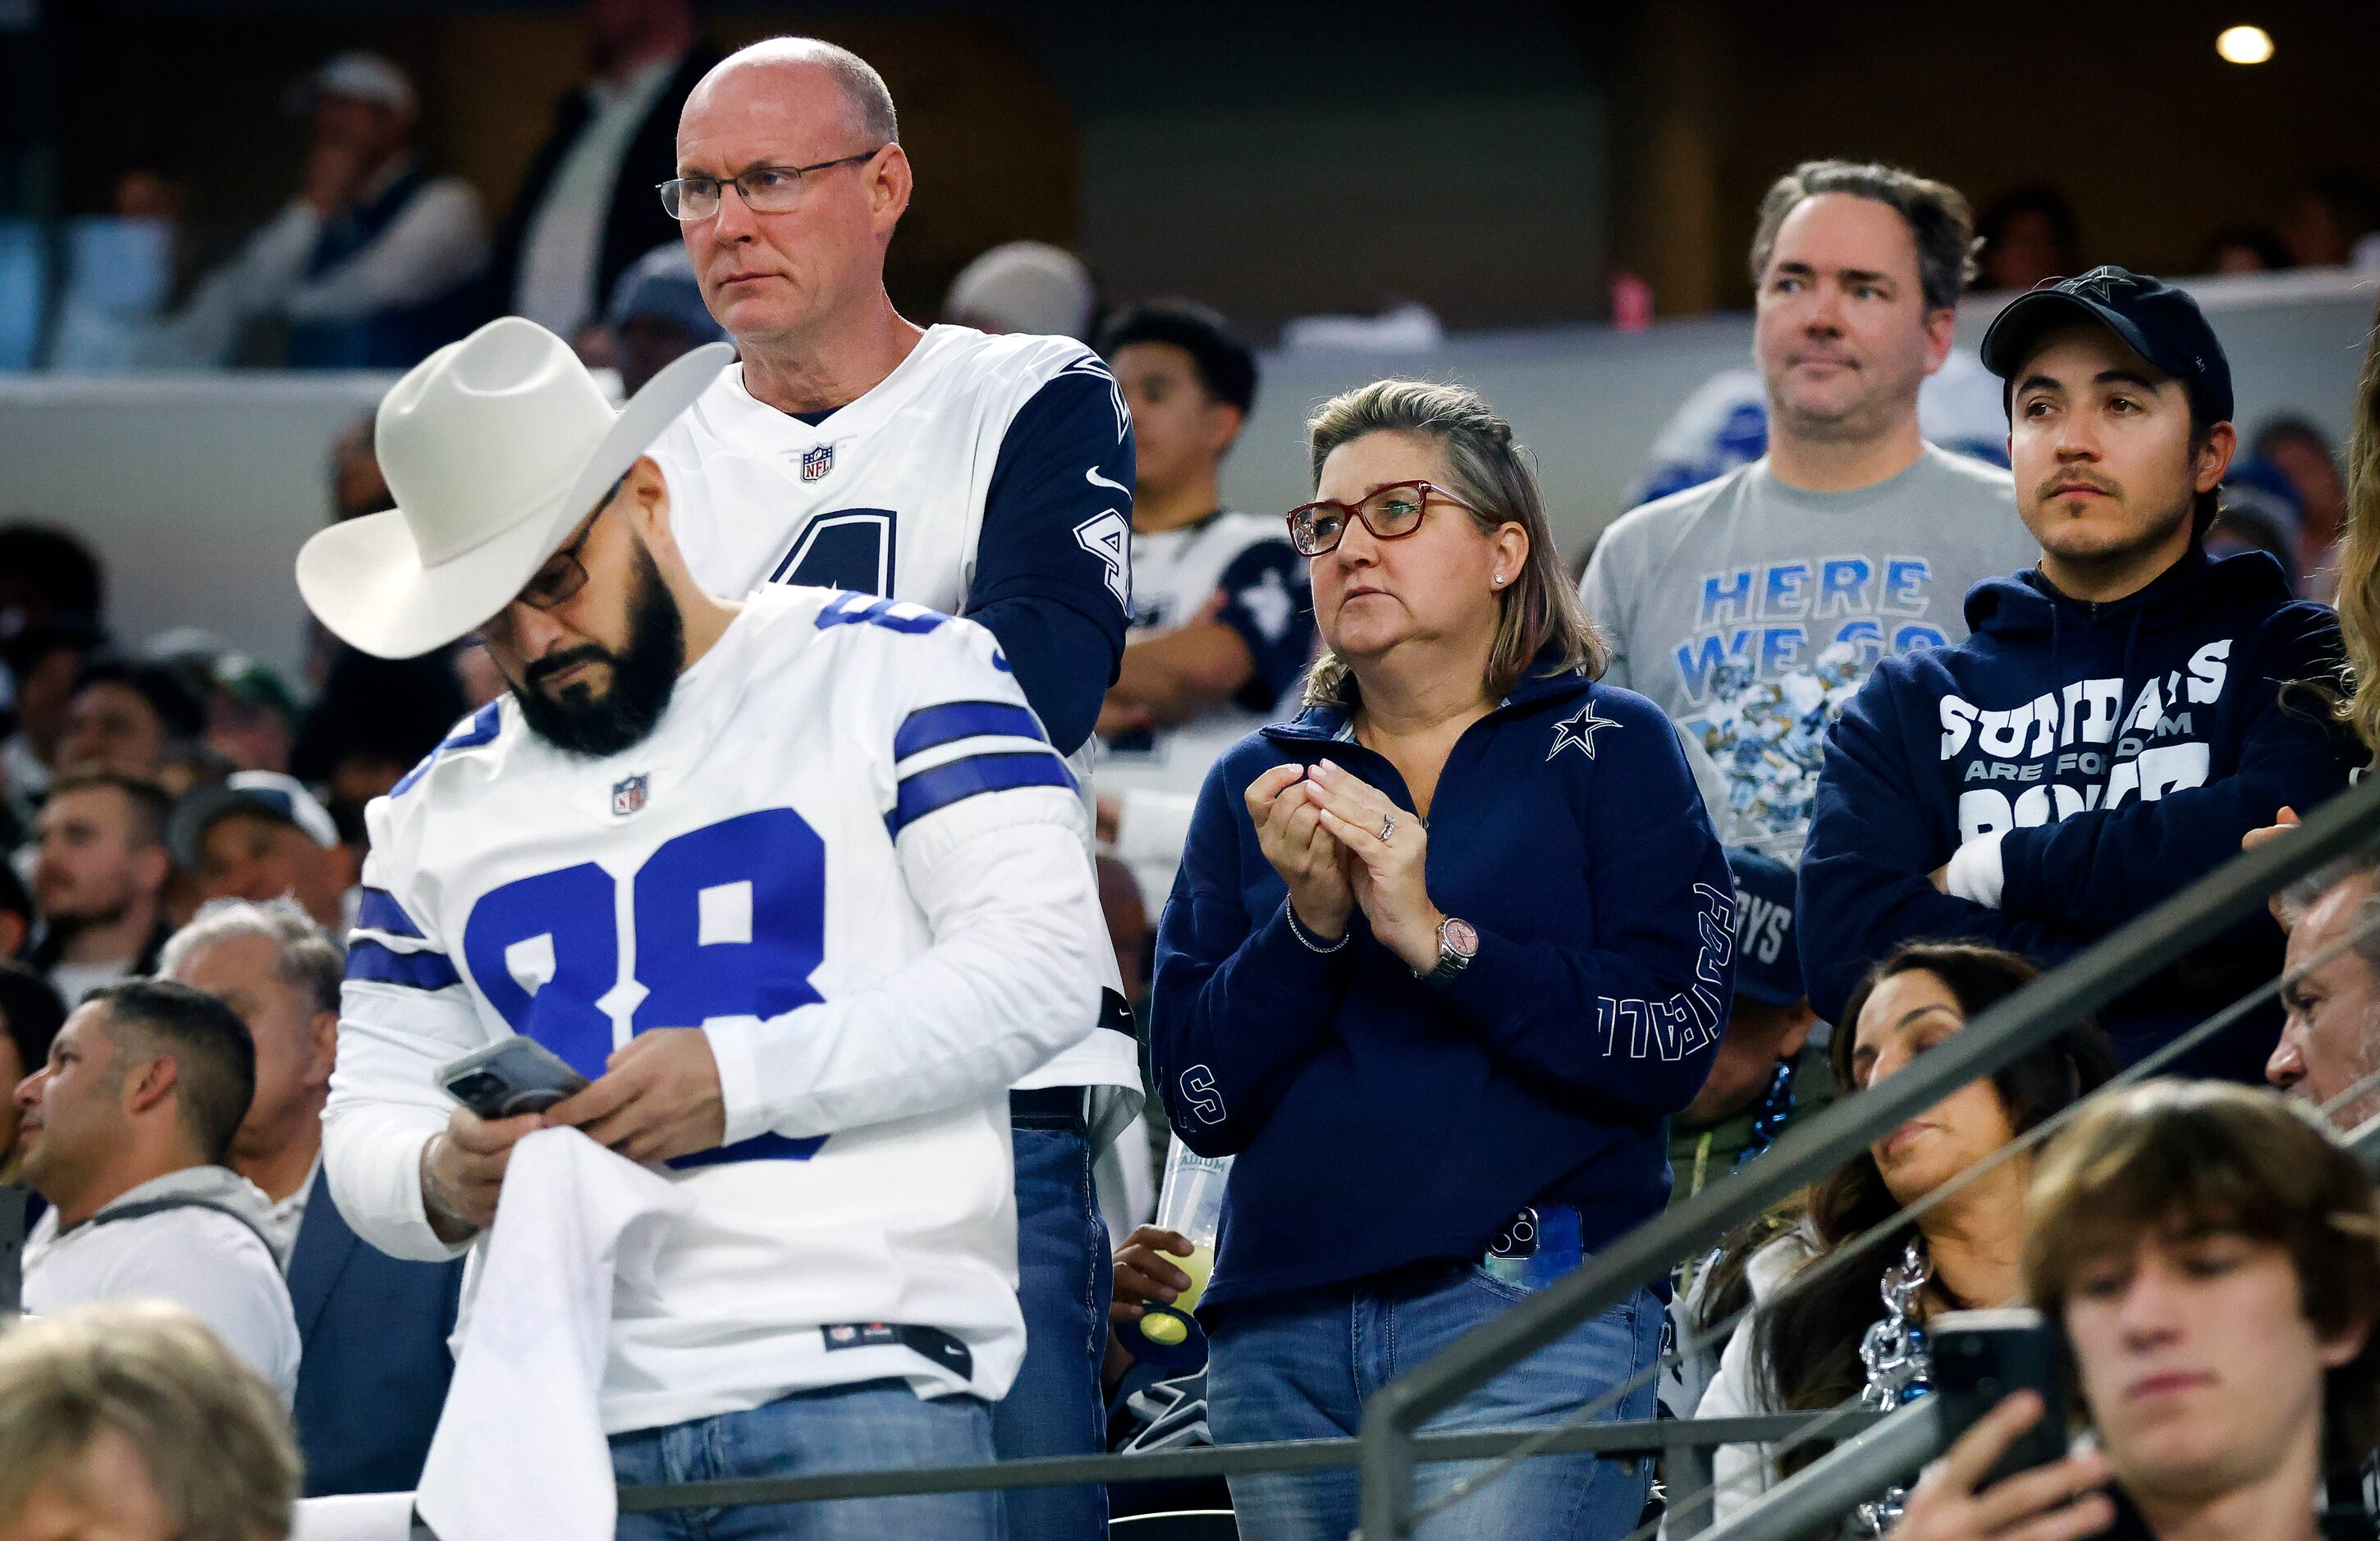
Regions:
<instances>
[{"instance_id":1,"label":"greying blonde hair of the woman in red glasses","mask_svg":"<svg viewBox=\"0 0 2380 1541\"><path fill-rule=\"evenodd\" d=\"M1468 385L1373 380L1330 397L1307 419L1314 480L1321 483L1323 461L1333 449L1373 433L1423 433L1438 440L1454 483L1447 490L1471 504L1471 523L1483 535L1507 523L1528 530L1528 561L1497 595L1499 621L1488 654L1488 694L1507 697L1547 647L1557 649L1547 675L1583 671L1590 680L1602 678L1609 652L1561 568L1561 552L1554 549L1554 530L1545 518L1545 497L1521 445L1511 440L1511 423ZM1345 690L1347 659L1323 647L1307 671L1304 702L1342 704Z\"/></svg>"}]
</instances>

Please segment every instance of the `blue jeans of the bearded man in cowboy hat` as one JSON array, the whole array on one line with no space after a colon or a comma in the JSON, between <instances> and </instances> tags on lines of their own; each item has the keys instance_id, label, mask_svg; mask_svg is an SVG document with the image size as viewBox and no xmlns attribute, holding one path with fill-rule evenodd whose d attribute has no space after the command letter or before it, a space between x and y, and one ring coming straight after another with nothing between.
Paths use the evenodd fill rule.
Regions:
<instances>
[{"instance_id":1,"label":"blue jeans of the bearded man in cowboy hat","mask_svg":"<svg viewBox=\"0 0 2380 1541\"><path fill-rule=\"evenodd\" d=\"M976 1465L992 1458L992 1413L976 1396L919 1401L907 1382L797 1391L750 1413L612 1436L621 1484L814 1477L883 1467ZM621 1515L619 1541L1004 1541L992 1493L838 1498Z\"/></svg>"}]
</instances>

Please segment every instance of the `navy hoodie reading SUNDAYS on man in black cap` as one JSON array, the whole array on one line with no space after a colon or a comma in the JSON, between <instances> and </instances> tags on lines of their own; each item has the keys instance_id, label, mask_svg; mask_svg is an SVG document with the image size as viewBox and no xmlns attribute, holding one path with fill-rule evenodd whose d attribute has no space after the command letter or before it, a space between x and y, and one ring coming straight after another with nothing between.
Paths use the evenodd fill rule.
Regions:
<instances>
[{"instance_id":1,"label":"navy hoodie reading SUNDAYS on man in black cap","mask_svg":"<svg viewBox=\"0 0 2380 1541\"><path fill-rule=\"evenodd\" d=\"M1875 958L1973 937L2059 963L2240 854L2240 837L2347 785L2340 625L2290 599L2263 552L2192 547L2137 595L2068 599L2040 573L1978 583L1956 647L1883 659L1825 737L1802 854L1802 970L1837 1020ZM1966 842L1999 844L1999 904L1935 892ZM2182 958L2099 1020L2125 1063L2280 966L2263 916ZM2278 1015L2192 1051L2197 1075L2261 1080Z\"/></svg>"}]
</instances>

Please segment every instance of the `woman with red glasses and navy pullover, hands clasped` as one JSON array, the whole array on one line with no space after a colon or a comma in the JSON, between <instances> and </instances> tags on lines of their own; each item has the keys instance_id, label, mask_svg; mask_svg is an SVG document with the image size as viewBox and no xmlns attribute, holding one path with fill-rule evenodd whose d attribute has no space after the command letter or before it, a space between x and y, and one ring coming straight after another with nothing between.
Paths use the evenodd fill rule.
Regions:
<instances>
[{"instance_id":1,"label":"woman with red glasses and navy pullover, hands clasped","mask_svg":"<svg viewBox=\"0 0 2380 1541\"><path fill-rule=\"evenodd\" d=\"M1733 887L1661 711L1604 649L1511 428L1380 380L1307 426L1323 654L1207 778L1157 935L1173 1132L1238 1156L1209 1332L1219 1443L1354 1434L1368 1396L1661 1210L1661 1120L1726 1025ZM1649 1289L1433 1429L1649 1417ZM1549 1455L1418 1534L1616 1539L1640 1463ZM1345 1536L1352 1467L1235 1477L1250 1541ZM1435 1512L1433 1512L1435 1510Z\"/></svg>"}]
</instances>

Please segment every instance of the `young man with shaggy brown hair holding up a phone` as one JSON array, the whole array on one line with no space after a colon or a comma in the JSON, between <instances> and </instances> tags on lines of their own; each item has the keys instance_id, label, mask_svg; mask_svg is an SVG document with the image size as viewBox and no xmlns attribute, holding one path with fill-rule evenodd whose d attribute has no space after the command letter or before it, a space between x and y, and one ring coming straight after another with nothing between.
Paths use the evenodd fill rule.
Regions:
<instances>
[{"instance_id":1,"label":"young man with shaggy brown hair holding up a phone","mask_svg":"<svg viewBox=\"0 0 2380 1541\"><path fill-rule=\"evenodd\" d=\"M2221 1082L2092 1103L2033 1180L2023 1277L2099 1448L1987 1484L2042 1417L2018 1391L1925 1472L1892 1541L2349 1534L2318 1510L2380 1434L2380 1225L2313 1118Z\"/></svg>"}]
</instances>

